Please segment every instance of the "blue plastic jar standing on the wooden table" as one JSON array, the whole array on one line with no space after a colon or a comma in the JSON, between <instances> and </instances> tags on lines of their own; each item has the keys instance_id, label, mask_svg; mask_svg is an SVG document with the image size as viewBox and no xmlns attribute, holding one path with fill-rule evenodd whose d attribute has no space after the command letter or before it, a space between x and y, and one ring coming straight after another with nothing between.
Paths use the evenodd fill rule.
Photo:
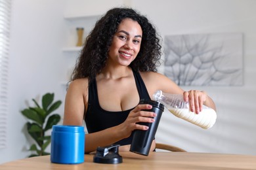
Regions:
<instances>
[{"instance_id":1,"label":"blue plastic jar standing on the wooden table","mask_svg":"<svg viewBox=\"0 0 256 170\"><path fill-rule=\"evenodd\" d=\"M83 163L85 131L83 126L53 126L51 135L51 162Z\"/></svg>"}]
</instances>

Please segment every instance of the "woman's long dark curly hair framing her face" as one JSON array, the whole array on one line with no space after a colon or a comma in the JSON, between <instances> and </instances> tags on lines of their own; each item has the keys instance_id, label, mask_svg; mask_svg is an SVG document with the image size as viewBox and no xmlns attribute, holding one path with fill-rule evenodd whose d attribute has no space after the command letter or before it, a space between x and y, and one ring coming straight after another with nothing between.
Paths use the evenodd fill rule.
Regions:
<instances>
[{"instance_id":1,"label":"woman's long dark curly hair framing her face","mask_svg":"<svg viewBox=\"0 0 256 170\"><path fill-rule=\"evenodd\" d=\"M140 15L134 9L114 8L108 10L96 22L94 29L86 38L85 46L77 58L71 80L88 77L89 82L91 82L102 71L106 65L112 38L118 25L125 18L131 18L138 22L142 28L140 52L129 66L135 71L158 71L156 67L160 64L161 45L155 27L145 16Z\"/></svg>"}]
</instances>

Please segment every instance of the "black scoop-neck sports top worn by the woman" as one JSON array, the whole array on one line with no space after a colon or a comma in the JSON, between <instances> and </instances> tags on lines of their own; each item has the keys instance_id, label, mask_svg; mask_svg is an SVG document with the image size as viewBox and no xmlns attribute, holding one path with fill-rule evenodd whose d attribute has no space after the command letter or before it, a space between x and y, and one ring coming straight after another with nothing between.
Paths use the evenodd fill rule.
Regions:
<instances>
[{"instance_id":1,"label":"black scoop-neck sports top worn by the woman","mask_svg":"<svg viewBox=\"0 0 256 170\"><path fill-rule=\"evenodd\" d=\"M146 90L146 86L140 76L140 74L136 71L133 71L133 75L135 77L135 82L137 86L137 90L139 92L140 99L150 99L150 95L148 94L148 90ZM89 85L89 99L88 99L88 109L85 114L85 124L87 126L88 133L93 133L96 131L102 131L109 127L117 126L123 123L129 112L132 109L110 112L104 110L100 107L98 102L98 92L96 87L96 80L93 80ZM133 133L132 133L133 134ZM130 135L126 139L122 139L117 141L116 144L126 145L131 144L133 139L133 135Z\"/></svg>"}]
</instances>

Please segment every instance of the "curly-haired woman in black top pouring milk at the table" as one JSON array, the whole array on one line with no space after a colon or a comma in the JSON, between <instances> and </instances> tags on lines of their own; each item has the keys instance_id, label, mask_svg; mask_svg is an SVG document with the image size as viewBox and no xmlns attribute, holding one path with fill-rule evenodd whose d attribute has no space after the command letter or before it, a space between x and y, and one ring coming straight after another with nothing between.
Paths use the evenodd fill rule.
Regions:
<instances>
[{"instance_id":1,"label":"curly-haired woman in black top pouring milk at the table","mask_svg":"<svg viewBox=\"0 0 256 170\"><path fill-rule=\"evenodd\" d=\"M133 9L109 10L87 37L72 75L64 110L64 125L81 126L85 120L85 153L98 146L120 144L128 151L135 129L147 130L138 122L154 122L151 99L156 90L181 93L192 111L202 105L215 109L203 91L184 92L175 82L157 73L161 57L160 39L148 19ZM156 146L153 141L151 149Z\"/></svg>"}]
</instances>

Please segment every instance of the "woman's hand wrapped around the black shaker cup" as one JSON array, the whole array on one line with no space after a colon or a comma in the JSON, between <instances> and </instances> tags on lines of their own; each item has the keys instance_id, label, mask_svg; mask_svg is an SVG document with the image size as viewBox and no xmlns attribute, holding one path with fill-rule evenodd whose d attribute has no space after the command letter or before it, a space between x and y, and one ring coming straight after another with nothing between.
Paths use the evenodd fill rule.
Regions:
<instances>
[{"instance_id":1,"label":"woman's hand wrapped around the black shaker cup","mask_svg":"<svg viewBox=\"0 0 256 170\"><path fill-rule=\"evenodd\" d=\"M148 126L137 124L139 122L154 122L154 117L156 117L155 112L150 112L146 110L152 109L152 105L137 105L135 109L131 110L125 122L120 124L121 134L125 135L124 138L129 137L131 132L135 129L147 130Z\"/></svg>"}]
</instances>

